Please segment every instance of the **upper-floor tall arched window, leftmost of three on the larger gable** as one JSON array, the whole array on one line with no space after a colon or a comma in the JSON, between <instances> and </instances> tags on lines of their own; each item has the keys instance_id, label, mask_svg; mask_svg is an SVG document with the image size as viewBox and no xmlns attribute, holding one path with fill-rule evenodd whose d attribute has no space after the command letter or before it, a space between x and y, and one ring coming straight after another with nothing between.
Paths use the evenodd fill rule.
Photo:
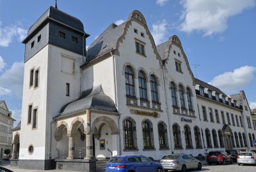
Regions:
<instances>
[{"instance_id":1,"label":"upper-floor tall arched window, leftmost of three on the larger gable","mask_svg":"<svg viewBox=\"0 0 256 172\"><path fill-rule=\"evenodd\" d=\"M125 67L125 90L127 96L135 96L134 72L130 66Z\"/></svg>"}]
</instances>

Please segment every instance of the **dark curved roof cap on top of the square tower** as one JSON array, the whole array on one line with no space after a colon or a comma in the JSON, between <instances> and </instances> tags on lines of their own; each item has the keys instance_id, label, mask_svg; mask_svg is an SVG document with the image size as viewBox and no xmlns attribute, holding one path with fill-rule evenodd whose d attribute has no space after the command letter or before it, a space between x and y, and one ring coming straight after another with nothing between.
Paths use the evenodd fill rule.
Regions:
<instances>
[{"instance_id":1,"label":"dark curved roof cap on top of the square tower","mask_svg":"<svg viewBox=\"0 0 256 172\"><path fill-rule=\"evenodd\" d=\"M36 20L35 24L29 28L28 36L22 42L26 43L26 41L28 41L28 39L33 36L36 31L38 31L49 21L57 22L58 24L69 27L77 32L86 34L84 32L84 25L81 20L51 6L40 18L38 18L38 20ZM86 35L89 36L88 34Z\"/></svg>"}]
</instances>

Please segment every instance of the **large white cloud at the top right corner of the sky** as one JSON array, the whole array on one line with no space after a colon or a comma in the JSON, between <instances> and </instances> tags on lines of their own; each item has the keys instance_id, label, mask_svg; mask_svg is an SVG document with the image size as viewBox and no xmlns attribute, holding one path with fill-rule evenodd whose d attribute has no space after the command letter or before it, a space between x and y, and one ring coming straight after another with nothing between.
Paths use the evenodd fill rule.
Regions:
<instances>
[{"instance_id":1,"label":"large white cloud at the top right corner of the sky","mask_svg":"<svg viewBox=\"0 0 256 172\"><path fill-rule=\"evenodd\" d=\"M210 36L225 31L228 18L252 8L255 0L183 0L182 6L180 30L200 31L203 36Z\"/></svg>"}]
</instances>

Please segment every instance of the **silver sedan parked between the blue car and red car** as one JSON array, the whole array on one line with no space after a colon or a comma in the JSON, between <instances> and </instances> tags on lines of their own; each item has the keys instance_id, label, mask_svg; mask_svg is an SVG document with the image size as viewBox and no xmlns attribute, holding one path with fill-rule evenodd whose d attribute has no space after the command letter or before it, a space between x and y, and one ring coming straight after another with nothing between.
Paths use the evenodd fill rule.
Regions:
<instances>
[{"instance_id":1,"label":"silver sedan parked between the blue car and red car","mask_svg":"<svg viewBox=\"0 0 256 172\"><path fill-rule=\"evenodd\" d=\"M189 154L173 154L161 159L164 171L181 170L185 172L187 169L202 169L202 163Z\"/></svg>"}]
</instances>

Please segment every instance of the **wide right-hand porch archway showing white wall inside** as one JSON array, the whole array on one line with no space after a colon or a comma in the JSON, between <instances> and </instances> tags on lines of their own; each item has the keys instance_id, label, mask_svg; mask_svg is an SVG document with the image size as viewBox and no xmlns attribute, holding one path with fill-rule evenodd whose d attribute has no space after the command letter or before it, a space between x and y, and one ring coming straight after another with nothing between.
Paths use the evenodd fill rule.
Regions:
<instances>
[{"instance_id":1,"label":"wide right-hand porch archway showing white wall inside","mask_svg":"<svg viewBox=\"0 0 256 172\"><path fill-rule=\"evenodd\" d=\"M117 155L118 127L115 121L109 117L98 117L93 121L93 153L97 158L108 158Z\"/></svg>"}]
</instances>

